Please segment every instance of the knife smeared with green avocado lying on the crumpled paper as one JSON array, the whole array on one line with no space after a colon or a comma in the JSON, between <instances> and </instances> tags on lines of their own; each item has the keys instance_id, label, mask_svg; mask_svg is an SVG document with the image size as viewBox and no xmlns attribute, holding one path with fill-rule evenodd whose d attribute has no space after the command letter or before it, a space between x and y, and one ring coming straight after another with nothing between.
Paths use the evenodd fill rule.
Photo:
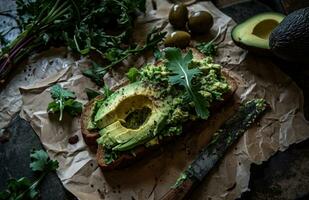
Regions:
<instances>
[{"instance_id":1,"label":"knife smeared with green avocado lying on the crumpled paper","mask_svg":"<svg viewBox=\"0 0 309 200\"><path fill-rule=\"evenodd\" d=\"M203 148L196 159L181 173L175 185L161 200L180 200L187 197L194 187L210 172L246 130L267 110L264 99L243 103L236 113L214 133L211 142Z\"/></svg>"}]
</instances>

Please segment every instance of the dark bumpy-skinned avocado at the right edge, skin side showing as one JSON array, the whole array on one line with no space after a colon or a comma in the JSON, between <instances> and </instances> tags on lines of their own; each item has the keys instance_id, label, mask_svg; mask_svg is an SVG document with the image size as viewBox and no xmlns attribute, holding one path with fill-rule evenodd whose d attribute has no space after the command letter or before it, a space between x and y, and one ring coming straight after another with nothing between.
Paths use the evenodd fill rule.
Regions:
<instances>
[{"instance_id":1,"label":"dark bumpy-skinned avocado at the right edge, skin side showing","mask_svg":"<svg viewBox=\"0 0 309 200\"><path fill-rule=\"evenodd\" d=\"M284 60L309 63L309 7L289 14L272 31L269 45Z\"/></svg>"}]
</instances>

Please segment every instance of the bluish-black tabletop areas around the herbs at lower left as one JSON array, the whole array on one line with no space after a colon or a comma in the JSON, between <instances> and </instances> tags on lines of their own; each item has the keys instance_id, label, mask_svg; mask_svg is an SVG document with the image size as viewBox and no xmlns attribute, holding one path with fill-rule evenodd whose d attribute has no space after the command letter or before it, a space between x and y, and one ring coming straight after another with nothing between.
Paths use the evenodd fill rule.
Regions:
<instances>
[{"instance_id":1,"label":"bluish-black tabletop areas around the herbs at lower left","mask_svg":"<svg viewBox=\"0 0 309 200\"><path fill-rule=\"evenodd\" d=\"M13 119L7 132L9 141L0 144L0 191L10 178L28 177L34 180L35 174L29 168L30 152L32 149L42 149L30 124L19 116ZM75 199L63 188L55 172L45 177L40 188L42 200Z\"/></svg>"}]
</instances>

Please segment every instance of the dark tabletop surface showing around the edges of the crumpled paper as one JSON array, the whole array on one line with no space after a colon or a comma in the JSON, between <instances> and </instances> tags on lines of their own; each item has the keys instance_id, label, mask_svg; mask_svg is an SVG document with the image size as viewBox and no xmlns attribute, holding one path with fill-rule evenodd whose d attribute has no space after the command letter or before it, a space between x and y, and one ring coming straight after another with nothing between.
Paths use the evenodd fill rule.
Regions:
<instances>
[{"instance_id":1,"label":"dark tabletop surface showing around the edges of the crumpled paper","mask_svg":"<svg viewBox=\"0 0 309 200\"><path fill-rule=\"evenodd\" d=\"M0 4L8 1L1 0ZM254 14L276 9L278 6L274 1L278 2L264 1L270 7L258 1L250 1L221 10L236 22L241 22ZM305 116L308 119L309 103L306 102L309 102L309 67L272 59L303 89ZM0 190L8 178L34 178L29 168L30 151L42 148L29 123L19 117L12 121L6 135L9 136L8 141L0 143ZM252 165L249 188L251 191L243 194L241 199L309 199L309 140L292 145L285 152L278 152L262 165ZM41 196L44 200L75 199L62 187L55 173L43 180Z\"/></svg>"}]
</instances>

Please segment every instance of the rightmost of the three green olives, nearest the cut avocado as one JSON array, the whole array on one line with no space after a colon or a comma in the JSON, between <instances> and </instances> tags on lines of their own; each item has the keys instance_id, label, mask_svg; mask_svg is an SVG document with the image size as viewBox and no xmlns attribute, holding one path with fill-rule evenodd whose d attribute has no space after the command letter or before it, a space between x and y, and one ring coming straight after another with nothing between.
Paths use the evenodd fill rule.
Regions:
<instances>
[{"instance_id":1,"label":"rightmost of the three green olives, nearest the cut avocado","mask_svg":"<svg viewBox=\"0 0 309 200\"><path fill-rule=\"evenodd\" d=\"M213 17L209 12L198 11L189 17L188 28L192 33L204 34L211 29L213 23Z\"/></svg>"}]
</instances>

